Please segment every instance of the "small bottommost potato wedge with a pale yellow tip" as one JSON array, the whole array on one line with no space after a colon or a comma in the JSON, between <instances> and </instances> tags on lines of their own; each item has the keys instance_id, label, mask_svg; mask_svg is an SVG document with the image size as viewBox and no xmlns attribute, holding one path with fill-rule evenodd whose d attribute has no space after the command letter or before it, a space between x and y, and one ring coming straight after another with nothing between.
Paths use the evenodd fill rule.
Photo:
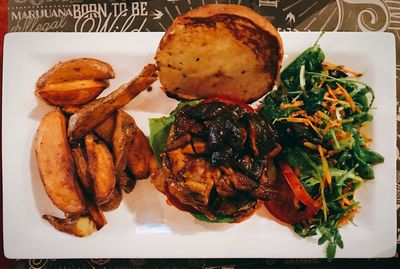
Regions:
<instances>
[{"instance_id":1,"label":"small bottommost potato wedge with a pale yellow tip","mask_svg":"<svg viewBox=\"0 0 400 269\"><path fill-rule=\"evenodd\" d=\"M71 218L61 219L50 215L43 215L43 218L57 230L79 237L89 236L96 231L94 222L87 216L77 215Z\"/></svg>"}]
</instances>

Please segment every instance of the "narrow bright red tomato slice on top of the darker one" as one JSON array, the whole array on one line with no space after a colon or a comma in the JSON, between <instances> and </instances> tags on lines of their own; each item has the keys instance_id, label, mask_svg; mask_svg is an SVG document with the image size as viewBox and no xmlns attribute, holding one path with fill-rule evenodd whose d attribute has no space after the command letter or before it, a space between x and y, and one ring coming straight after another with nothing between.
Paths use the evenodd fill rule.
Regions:
<instances>
[{"instance_id":1,"label":"narrow bright red tomato slice on top of the darker one","mask_svg":"<svg viewBox=\"0 0 400 269\"><path fill-rule=\"evenodd\" d=\"M294 196L299 199L306 206L316 206L314 199L308 194L303 184L296 176L289 164L284 161L279 161L279 167L281 168L282 174L285 177L287 183L292 189Z\"/></svg>"}]
</instances>

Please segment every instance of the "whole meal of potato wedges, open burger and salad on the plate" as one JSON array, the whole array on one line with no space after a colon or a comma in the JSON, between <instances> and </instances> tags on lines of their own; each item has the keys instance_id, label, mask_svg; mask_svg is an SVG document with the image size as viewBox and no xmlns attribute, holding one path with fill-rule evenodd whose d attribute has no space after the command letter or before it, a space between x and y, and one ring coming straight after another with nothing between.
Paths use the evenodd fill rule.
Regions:
<instances>
[{"instance_id":1,"label":"whole meal of potato wedges, open burger and salad on the plate","mask_svg":"<svg viewBox=\"0 0 400 269\"><path fill-rule=\"evenodd\" d=\"M150 176L197 220L239 223L266 207L298 235L318 234L332 259L344 246L339 228L360 207L355 190L384 161L365 131L374 92L358 72L328 63L318 41L280 70L283 47L250 9L209 5L178 17L155 64L108 95L109 64L60 59L36 84L56 108L41 120L35 154L65 217L43 217L88 236L106 225L103 211L118 208L121 190ZM180 103L149 119L148 140L123 108L157 79Z\"/></svg>"}]
</instances>

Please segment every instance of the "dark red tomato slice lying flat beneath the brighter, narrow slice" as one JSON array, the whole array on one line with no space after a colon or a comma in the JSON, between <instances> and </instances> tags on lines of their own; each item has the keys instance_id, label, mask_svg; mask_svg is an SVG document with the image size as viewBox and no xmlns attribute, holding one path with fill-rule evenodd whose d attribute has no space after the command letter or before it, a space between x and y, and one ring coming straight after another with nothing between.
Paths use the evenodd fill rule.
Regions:
<instances>
[{"instance_id":1,"label":"dark red tomato slice lying flat beneath the brighter, narrow slice","mask_svg":"<svg viewBox=\"0 0 400 269\"><path fill-rule=\"evenodd\" d=\"M280 171L277 171L273 188L276 190L276 195L264 202L264 205L275 218L282 222L288 224L300 223L310 219L321 208L318 202L314 203L315 206L307 206L304 210L297 208L295 206L296 197Z\"/></svg>"}]
</instances>

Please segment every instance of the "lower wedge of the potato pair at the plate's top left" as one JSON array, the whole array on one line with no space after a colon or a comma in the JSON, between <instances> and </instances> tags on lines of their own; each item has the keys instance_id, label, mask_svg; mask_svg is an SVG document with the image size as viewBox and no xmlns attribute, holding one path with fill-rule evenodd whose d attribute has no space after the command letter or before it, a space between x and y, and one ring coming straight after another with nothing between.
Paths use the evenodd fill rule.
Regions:
<instances>
[{"instance_id":1,"label":"lower wedge of the potato pair at the plate's top left","mask_svg":"<svg viewBox=\"0 0 400 269\"><path fill-rule=\"evenodd\" d=\"M107 87L108 82L73 80L44 84L36 88L36 95L54 106L82 105L94 100Z\"/></svg>"}]
</instances>

